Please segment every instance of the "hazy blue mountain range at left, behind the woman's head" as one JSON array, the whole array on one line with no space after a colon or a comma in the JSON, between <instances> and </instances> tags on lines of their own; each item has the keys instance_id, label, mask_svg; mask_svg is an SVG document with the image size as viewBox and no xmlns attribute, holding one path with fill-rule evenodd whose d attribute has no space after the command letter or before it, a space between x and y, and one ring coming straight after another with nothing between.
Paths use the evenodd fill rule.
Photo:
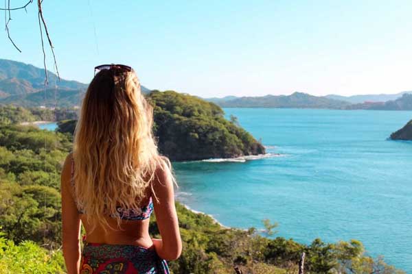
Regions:
<instances>
[{"instance_id":1,"label":"hazy blue mountain range at left, behind the woman's head","mask_svg":"<svg viewBox=\"0 0 412 274\"><path fill-rule=\"evenodd\" d=\"M49 86L45 90L45 70L12 60L0 59L0 103L12 103L26 107L57 105L71 107L81 103L87 84L65 79L58 80L48 71ZM54 88L54 86L57 88ZM141 86L144 93L150 90Z\"/></svg>"}]
</instances>

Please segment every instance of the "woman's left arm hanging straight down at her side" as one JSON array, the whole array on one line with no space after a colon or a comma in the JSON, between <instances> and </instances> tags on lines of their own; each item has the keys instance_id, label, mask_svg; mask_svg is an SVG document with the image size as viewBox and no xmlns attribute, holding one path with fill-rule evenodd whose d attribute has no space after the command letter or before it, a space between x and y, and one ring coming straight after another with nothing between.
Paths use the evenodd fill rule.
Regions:
<instances>
[{"instance_id":1,"label":"woman's left arm hanging straight down at her side","mask_svg":"<svg viewBox=\"0 0 412 274\"><path fill-rule=\"evenodd\" d=\"M80 217L71 195L71 155L67 156L61 177L63 256L67 274L80 271Z\"/></svg>"}]
</instances>

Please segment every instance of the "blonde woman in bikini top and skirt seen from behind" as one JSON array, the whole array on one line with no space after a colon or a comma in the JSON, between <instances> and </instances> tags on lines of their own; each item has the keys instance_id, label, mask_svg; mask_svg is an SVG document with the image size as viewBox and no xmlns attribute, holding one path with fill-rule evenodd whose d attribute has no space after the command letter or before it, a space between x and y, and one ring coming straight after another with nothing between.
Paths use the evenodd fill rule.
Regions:
<instances>
[{"instance_id":1,"label":"blonde woman in bikini top and skirt seen from behind","mask_svg":"<svg viewBox=\"0 0 412 274\"><path fill-rule=\"evenodd\" d=\"M181 237L170 162L152 136L152 108L129 66L95 71L62 170L67 272L169 273L165 260L179 258ZM153 209L161 239L148 233Z\"/></svg>"}]
</instances>

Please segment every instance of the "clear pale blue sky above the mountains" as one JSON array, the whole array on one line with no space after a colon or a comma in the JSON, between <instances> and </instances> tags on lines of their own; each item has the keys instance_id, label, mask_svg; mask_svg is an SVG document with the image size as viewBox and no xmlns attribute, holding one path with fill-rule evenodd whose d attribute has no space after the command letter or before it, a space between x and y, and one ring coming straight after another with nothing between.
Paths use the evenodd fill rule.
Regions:
<instances>
[{"instance_id":1,"label":"clear pale blue sky above the mountains","mask_svg":"<svg viewBox=\"0 0 412 274\"><path fill-rule=\"evenodd\" d=\"M202 97L412 90L411 0L43 5L65 79L88 83L95 65L114 62L133 66L148 88ZM36 5L12 19L23 53L3 32L0 58L43 66Z\"/></svg>"}]
</instances>

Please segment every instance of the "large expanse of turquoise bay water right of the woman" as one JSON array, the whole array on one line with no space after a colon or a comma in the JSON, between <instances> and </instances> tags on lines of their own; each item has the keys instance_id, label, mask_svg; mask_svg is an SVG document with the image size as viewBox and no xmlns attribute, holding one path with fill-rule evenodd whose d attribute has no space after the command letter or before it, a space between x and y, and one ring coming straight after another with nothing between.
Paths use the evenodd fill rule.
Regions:
<instances>
[{"instance_id":1,"label":"large expanse of turquoise bay water right of the woman","mask_svg":"<svg viewBox=\"0 0 412 274\"><path fill-rule=\"evenodd\" d=\"M412 112L225 109L268 152L247 162L179 162L177 197L230 227L310 243L361 240L412 273L412 142L387 140Z\"/></svg>"}]
</instances>

